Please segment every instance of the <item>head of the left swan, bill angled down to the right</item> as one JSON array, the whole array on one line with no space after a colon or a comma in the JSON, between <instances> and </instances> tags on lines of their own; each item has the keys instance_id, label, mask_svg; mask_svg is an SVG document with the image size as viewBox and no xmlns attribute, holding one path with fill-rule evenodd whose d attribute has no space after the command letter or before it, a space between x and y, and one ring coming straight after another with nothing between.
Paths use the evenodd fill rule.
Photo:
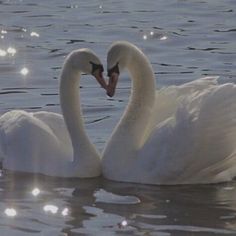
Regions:
<instances>
[{"instance_id":1,"label":"head of the left swan, bill angled down to the right","mask_svg":"<svg viewBox=\"0 0 236 236\"><path fill-rule=\"evenodd\" d=\"M107 89L107 84L103 78L103 65L98 56L90 49L83 48L75 50L69 54L66 64L77 71L93 75L98 83Z\"/></svg>"}]
</instances>

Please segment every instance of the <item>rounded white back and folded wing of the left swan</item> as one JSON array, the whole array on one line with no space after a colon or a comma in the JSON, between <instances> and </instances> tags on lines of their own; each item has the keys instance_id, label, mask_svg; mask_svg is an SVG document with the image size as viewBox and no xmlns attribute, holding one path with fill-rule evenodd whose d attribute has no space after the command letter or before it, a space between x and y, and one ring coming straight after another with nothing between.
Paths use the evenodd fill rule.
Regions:
<instances>
[{"instance_id":1,"label":"rounded white back and folded wing of the left swan","mask_svg":"<svg viewBox=\"0 0 236 236\"><path fill-rule=\"evenodd\" d=\"M7 112L0 117L0 138L0 154L8 170L44 173L56 160L73 158L62 116L54 113Z\"/></svg>"}]
</instances>

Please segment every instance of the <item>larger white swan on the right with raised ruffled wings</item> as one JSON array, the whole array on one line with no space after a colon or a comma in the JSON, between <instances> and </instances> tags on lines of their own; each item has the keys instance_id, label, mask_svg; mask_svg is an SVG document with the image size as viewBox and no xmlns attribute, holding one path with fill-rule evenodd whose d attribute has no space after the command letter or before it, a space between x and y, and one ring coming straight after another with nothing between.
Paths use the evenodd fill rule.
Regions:
<instances>
[{"instance_id":1,"label":"larger white swan on the right with raised ruffled wings","mask_svg":"<svg viewBox=\"0 0 236 236\"><path fill-rule=\"evenodd\" d=\"M127 108L102 154L103 175L156 185L230 181L236 175L236 86L205 77L156 90L144 53L129 42L107 55L113 96L120 72L132 80Z\"/></svg>"}]
</instances>

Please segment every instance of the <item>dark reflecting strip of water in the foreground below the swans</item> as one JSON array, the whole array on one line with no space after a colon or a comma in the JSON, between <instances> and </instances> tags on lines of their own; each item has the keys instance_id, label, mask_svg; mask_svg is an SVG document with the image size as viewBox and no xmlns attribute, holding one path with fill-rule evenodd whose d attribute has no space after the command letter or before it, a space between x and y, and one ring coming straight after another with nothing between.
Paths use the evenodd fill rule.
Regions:
<instances>
[{"instance_id":1,"label":"dark reflecting strip of water in the foreground below the swans","mask_svg":"<svg viewBox=\"0 0 236 236\"><path fill-rule=\"evenodd\" d=\"M236 182L152 186L8 172L0 180L0 227L55 235L235 235L235 196Z\"/></svg>"}]
</instances>

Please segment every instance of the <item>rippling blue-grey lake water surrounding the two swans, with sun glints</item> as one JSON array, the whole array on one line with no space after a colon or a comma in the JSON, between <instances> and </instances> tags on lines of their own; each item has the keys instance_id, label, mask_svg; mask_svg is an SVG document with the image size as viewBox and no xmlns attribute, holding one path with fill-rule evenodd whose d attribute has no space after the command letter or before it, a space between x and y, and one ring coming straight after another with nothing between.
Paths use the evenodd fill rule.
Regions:
<instances>
[{"instance_id":1,"label":"rippling blue-grey lake water surrounding the two swans, with sun glints","mask_svg":"<svg viewBox=\"0 0 236 236\"><path fill-rule=\"evenodd\" d=\"M236 2L0 1L0 113L60 112L65 55L93 49L106 64L115 40L138 45L158 86L205 75L236 80ZM124 74L108 99L91 76L81 80L86 128L99 150L127 104ZM236 182L158 187L3 173L0 235L236 235Z\"/></svg>"}]
</instances>

